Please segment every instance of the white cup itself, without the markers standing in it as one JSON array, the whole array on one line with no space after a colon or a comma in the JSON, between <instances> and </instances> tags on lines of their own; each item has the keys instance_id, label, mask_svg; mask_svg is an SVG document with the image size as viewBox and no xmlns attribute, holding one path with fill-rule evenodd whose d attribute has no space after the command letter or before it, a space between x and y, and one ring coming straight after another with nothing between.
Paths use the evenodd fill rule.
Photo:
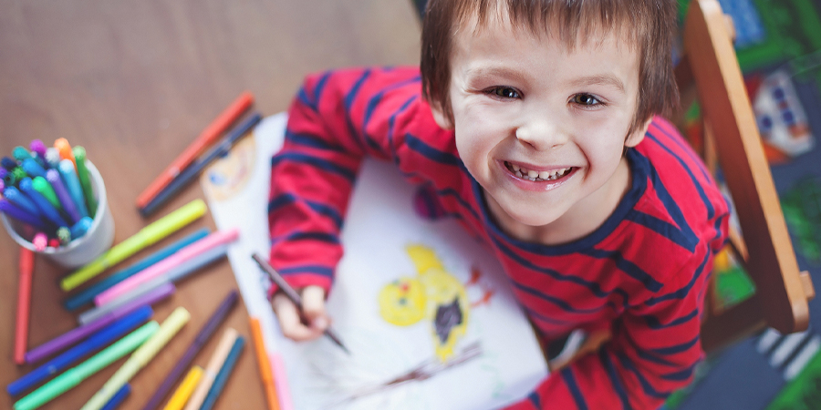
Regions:
<instances>
[{"instance_id":1,"label":"white cup itself, without the markers standing in it","mask_svg":"<svg viewBox=\"0 0 821 410\"><path fill-rule=\"evenodd\" d=\"M109 209L106 185L103 183L102 176L99 175L99 170L91 161L86 160L86 168L88 168L88 174L91 177L91 189L94 191L98 205L97 214L94 215L91 227L83 236L59 248L46 248L45 251L36 251L34 244L27 241L19 233L25 231L24 224L13 218L6 218L5 214L0 212L0 220L3 220L5 230L8 231L12 239L20 246L35 251L48 260L69 269L78 268L94 261L104 251L108 251L111 244L114 243L114 217L111 216L111 210Z\"/></svg>"}]
</instances>

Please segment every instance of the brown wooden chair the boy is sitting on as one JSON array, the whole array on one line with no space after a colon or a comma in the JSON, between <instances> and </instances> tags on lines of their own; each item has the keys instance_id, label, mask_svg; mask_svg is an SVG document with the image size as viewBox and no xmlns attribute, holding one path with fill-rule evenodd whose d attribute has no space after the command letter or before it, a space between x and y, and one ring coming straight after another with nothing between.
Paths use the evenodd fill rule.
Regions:
<instances>
[{"instance_id":1,"label":"brown wooden chair the boy is sitting on","mask_svg":"<svg viewBox=\"0 0 821 410\"><path fill-rule=\"evenodd\" d=\"M734 259L755 283L755 294L729 308L707 298L701 346L708 354L764 329L780 333L804 331L807 302L815 296L808 272L799 272L773 177L733 49L733 22L718 0L692 0L683 27L683 56L676 67L681 107L693 99L701 105L704 140L701 157L714 171L721 165L742 235L730 232ZM681 114L683 118L683 114ZM681 125L681 118L672 118ZM712 275L713 281L716 275ZM608 333L593 334L556 370L598 350Z\"/></svg>"}]
</instances>

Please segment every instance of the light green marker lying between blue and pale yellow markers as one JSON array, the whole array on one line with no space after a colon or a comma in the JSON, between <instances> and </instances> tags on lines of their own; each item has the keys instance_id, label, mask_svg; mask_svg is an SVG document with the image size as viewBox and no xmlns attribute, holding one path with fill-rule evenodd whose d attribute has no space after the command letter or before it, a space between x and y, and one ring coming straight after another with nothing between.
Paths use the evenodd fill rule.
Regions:
<instances>
[{"instance_id":1,"label":"light green marker lying between blue and pale yellow markers","mask_svg":"<svg viewBox=\"0 0 821 410\"><path fill-rule=\"evenodd\" d=\"M47 404L51 399L66 393L92 374L120 359L120 357L133 352L140 347L140 344L148 340L154 333L157 333L159 329L160 324L156 321L143 324L139 329L129 333L128 336L123 337L117 343L111 344L99 354L95 354L82 364L68 369L65 373L55 377L54 380L43 384L34 392L17 401L15 410L33 410Z\"/></svg>"}]
</instances>

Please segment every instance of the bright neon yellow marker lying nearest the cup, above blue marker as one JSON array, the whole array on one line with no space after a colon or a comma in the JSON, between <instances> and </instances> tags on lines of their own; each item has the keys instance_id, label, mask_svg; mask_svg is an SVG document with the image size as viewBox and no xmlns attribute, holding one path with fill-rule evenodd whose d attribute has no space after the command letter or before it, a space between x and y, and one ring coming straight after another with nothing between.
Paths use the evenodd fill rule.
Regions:
<instances>
[{"instance_id":1,"label":"bright neon yellow marker lying nearest the cup, above blue marker","mask_svg":"<svg viewBox=\"0 0 821 410\"><path fill-rule=\"evenodd\" d=\"M60 287L66 292L78 287L105 271L109 266L120 263L120 261L150 246L154 242L160 241L175 231L179 231L183 226L203 216L205 210L207 210L207 208L203 200L192 200L188 204L183 205L179 210L174 210L161 219L154 221L151 225L141 229L129 239L121 241L109 251L100 255L99 258L88 263L88 265L69 274L60 281Z\"/></svg>"}]
</instances>

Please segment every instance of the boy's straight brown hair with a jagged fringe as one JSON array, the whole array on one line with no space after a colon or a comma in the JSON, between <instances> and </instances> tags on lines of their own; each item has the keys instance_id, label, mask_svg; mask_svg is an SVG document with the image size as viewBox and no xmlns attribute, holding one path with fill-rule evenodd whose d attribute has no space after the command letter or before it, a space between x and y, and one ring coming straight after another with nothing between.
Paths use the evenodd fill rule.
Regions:
<instances>
[{"instance_id":1,"label":"boy's straight brown hair with a jagged fringe","mask_svg":"<svg viewBox=\"0 0 821 410\"><path fill-rule=\"evenodd\" d=\"M639 101L632 132L654 114L670 115L679 100L672 67L676 34L675 0L429 0L421 37L422 96L452 121L448 94L453 38L473 18L479 28L492 12L504 13L515 27L532 33L554 28L566 46L578 38L616 29L639 51Z\"/></svg>"}]
</instances>

